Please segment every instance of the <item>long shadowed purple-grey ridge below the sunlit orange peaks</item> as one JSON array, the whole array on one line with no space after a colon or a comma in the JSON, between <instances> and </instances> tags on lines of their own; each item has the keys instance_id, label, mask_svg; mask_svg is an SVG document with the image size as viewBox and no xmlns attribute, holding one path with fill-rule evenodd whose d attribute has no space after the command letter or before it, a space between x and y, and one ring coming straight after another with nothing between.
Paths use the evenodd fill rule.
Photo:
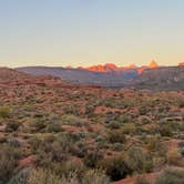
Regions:
<instances>
[{"instance_id":1,"label":"long shadowed purple-grey ridge below the sunlit orange peaks","mask_svg":"<svg viewBox=\"0 0 184 184\"><path fill-rule=\"evenodd\" d=\"M62 80L81 84L99 84L102 86L124 86L124 84L137 78L137 70L122 70L111 72L94 72L84 69L28 67L18 68L17 71L32 75L53 75Z\"/></svg>"}]
</instances>

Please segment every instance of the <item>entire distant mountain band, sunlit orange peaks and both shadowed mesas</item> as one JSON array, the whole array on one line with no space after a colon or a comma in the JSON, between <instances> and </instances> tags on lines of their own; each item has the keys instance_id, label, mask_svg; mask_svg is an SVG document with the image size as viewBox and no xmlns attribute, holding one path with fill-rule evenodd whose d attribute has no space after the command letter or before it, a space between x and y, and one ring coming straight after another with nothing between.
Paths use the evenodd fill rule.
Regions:
<instances>
[{"instance_id":1,"label":"entire distant mountain band, sunlit orange peaks and both shadowed mesas","mask_svg":"<svg viewBox=\"0 0 184 184\"><path fill-rule=\"evenodd\" d=\"M90 68L27 67L17 71L32 75L52 75L76 84L102 85L106 88L137 88L184 90L184 63L177 67L159 67L155 61L149 65L116 67L113 63Z\"/></svg>"}]
</instances>

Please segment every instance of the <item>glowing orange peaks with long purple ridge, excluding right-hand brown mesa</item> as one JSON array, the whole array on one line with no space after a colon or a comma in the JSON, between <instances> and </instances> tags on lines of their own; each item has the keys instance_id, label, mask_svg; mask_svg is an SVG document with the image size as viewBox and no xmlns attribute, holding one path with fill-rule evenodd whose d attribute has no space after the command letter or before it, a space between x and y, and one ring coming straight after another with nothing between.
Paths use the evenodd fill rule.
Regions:
<instances>
[{"instance_id":1,"label":"glowing orange peaks with long purple ridge, excluding right-hand brown mesa","mask_svg":"<svg viewBox=\"0 0 184 184\"><path fill-rule=\"evenodd\" d=\"M157 63L152 61L147 67L137 68L135 64L129 67L116 67L108 63L104 65L93 65L90 68L48 68L27 67L18 68L18 71L33 75L53 75L62 80L82 84L99 84L103 86L124 86L129 81L136 79L144 70L157 68Z\"/></svg>"}]
</instances>

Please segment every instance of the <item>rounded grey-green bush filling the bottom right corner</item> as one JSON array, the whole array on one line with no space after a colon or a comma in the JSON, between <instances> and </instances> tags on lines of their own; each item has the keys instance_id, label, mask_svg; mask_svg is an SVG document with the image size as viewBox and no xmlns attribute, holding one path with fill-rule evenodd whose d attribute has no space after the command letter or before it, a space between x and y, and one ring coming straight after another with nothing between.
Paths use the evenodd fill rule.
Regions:
<instances>
[{"instance_id":1,"label":"rounded grey-green bush filling the bottom right corner","mask_svg":"<svg viewBox=\"0 0 184 184\"><path fill-rule=\"evenodd\" d=\"M183 184L184 170L167 167L156 178L155 184Z\"/></svg>"}]
</instances>

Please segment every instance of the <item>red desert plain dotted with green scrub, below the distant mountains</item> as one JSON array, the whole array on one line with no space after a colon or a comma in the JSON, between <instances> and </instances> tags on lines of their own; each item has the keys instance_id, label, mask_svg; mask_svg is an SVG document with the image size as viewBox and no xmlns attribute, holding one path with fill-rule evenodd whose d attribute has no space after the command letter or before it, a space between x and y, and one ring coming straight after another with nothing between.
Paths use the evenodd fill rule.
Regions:
<instances>
[{"instance_id":1,"label":"red desert plain dotted with green scrub, below the distant mountains","mask_svg":"<svg viewBox=\"0 0 184 184\"><path fill-rule=\"evenodd\" d=\"M1 89L0 146L2 184L182 184L184 93Z\"/></svg>"}]
</instances>

